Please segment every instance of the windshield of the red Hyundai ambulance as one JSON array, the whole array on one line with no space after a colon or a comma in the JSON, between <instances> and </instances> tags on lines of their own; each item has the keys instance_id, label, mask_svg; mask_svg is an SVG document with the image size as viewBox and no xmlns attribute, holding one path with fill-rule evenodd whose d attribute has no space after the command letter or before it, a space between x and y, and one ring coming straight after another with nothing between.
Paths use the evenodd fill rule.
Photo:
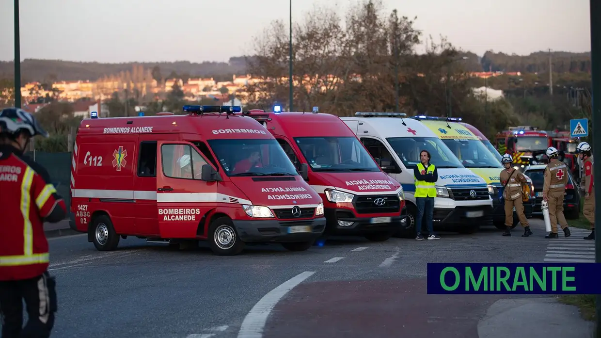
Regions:
<instances>
[{"instance_id":1,"label":"windshield of the red Hyundai ambulance","mask_svg":"<svg viewBox=\"0 0 601 338\"><path fill-rule=\"evenodd\" d=\"M356 137L298 137L294 141L313 171L380 171Z\"/></svg>"}]
</instances>

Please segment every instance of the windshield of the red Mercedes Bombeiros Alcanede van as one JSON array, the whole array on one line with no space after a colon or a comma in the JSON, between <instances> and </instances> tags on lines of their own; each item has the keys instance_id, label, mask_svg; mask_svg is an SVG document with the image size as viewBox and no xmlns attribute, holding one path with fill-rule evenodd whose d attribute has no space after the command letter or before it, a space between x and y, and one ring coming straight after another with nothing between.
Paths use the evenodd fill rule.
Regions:
<instances>
[{"instance_id":1,"label":"windshield of the red Mercedes Bombeiros Alcanede van","mask_svg":"<svg viewBox=\"0 0 601 338\"><path fill-rule=\"evenodd\" d=\"M228 176L296 176L296 168L273 139L209 140Z\"/></svg>"}]
</instances>

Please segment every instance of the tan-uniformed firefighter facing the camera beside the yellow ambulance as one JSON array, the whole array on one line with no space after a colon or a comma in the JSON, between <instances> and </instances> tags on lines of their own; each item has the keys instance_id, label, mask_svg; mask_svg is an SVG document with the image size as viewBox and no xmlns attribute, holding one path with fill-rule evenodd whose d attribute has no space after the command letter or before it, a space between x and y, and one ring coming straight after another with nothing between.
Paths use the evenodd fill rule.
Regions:
<instances>
[{"instance_id":1,"label":"tan-uniformed firefighter facing the camera beside the yellow ambulance","mask_svg":"<svg viewBox=\"0 0 601 338\"><path fill-rule=\"evenodd\" d=\"M513 225L513 209L516 209L517 218L520 220L524 233L522 237L528 237L532 235L532 230L524 215L524 207L522 203L523 185L528 184L526 177L523 176L518 170L511 167L513 159L511 155L505 154L501 158L501 163L505 167L505 170L501 171L499 178L503 185L503 199L505 200L505 232L503 236L511 236L511 226Z\"/></svg>"}]
</instances>

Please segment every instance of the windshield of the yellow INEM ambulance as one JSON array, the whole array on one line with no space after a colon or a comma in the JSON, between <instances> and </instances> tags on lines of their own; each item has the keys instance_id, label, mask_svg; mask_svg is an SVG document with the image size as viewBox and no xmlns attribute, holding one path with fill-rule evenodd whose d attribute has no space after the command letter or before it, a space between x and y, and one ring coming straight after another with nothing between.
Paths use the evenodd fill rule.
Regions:
<instances>
[{"instance_id":1,"label":"windshield of the yellow INEM ambulance","mask_svg":"<svg viewBox=\"0 0 601 338\"><path fill-rule=\"evenodd\" d=\"M466 168L502 168L501 162L478 140L442 140Z\"/></svg>"}]
</instances>

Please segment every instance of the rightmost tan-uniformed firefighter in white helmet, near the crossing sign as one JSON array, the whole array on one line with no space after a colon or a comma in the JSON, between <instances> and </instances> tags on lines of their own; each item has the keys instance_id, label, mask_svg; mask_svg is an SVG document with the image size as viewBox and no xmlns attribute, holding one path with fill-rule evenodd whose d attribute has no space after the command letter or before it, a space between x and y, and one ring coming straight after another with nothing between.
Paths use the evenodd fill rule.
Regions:
<instances>
[{"instance_id":1,"label":"rightmost tan-uniformed firefighter in white helmet, near the crossing sign","mask_svg":"<svg viewBox=\"0 0 601 338\"><path fill-rule=\"evenodd\" d=\"M591 156L591 146L586 142L581 142L576 146L578 158L582 159L584 170L582 173L580 188L584 191L584 207L582 214L591 223L591 233L584 239L595 239L595 181L593 176L593 159Z\"/></svg>"}]
</instances>

